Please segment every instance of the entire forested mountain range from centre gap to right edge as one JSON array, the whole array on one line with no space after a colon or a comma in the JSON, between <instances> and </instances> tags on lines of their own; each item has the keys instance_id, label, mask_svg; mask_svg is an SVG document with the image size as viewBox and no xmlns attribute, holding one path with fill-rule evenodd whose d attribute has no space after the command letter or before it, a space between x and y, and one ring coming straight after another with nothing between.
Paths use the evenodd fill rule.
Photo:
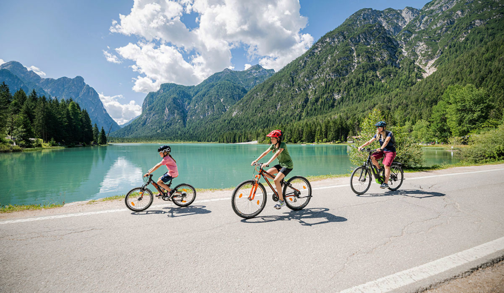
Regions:
<instances>
[{"instance_id":1,"label":"entire forested mountain range from centre gap to right edge","mask_svg":"<svg viewBox=\"0 0 504 293\"><path fill-rule=\"evenodd\" d=\"M375 107L415 124L429 119L449 85L467 83L491 92L501 117L503 17L504 3L493 0L362 9L254 87L219 79L231 70L193 87L163 84L147 95L142 115L113 135L217 141L233 132L254 136L303 121L362 118Z\"/></svg>"}]
</instances>

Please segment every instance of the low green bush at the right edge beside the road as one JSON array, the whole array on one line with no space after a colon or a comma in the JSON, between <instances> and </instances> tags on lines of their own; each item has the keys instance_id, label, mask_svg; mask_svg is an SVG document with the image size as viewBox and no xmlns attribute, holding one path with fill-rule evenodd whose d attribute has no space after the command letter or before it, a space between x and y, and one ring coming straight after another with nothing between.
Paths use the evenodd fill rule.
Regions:
<instances>
[{"instance_id":1,"label":"low green bush at the right edge beside the road","mask_svg":"<svg viewBox=\"0 0 504 293\"><path fill-rule=\"evenodd\" d=\"M504 124L484 134L472 135L469 146L461 150L461 156L468 163L504 160Z\"/></svg>"}]
</instances>

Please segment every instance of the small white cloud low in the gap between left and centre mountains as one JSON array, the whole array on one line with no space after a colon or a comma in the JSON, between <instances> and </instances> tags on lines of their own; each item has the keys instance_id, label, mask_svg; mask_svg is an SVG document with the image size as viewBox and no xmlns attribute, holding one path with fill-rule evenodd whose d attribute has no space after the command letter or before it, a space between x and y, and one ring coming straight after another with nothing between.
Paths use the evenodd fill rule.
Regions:
<instances>
[{"instance_id":1,"label":"small white cloud low in the gap between left and centre mountains","mask_svg":"<svg viewBox=\"0 0 504 293\"><path fill-rule=\"evenodd\" d=\"M130 101L128 104L121 104L117 99L124 99L122 94L107 96L102 93L98 93L100 100L107 110L108 115L117 122L117 124L122 125L133 118L142 114L142 107L137 105L135 101Z\"/></svg>"}]
</instances>

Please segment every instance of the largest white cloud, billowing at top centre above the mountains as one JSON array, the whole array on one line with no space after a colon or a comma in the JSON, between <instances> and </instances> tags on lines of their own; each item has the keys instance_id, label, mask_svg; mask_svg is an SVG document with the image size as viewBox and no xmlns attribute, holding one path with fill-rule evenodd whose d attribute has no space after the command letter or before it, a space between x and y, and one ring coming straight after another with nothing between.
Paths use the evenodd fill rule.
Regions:
<instances>
[{"instance_id":1,"label":"largest white cloud, billowing at top centre above the mountains","mask_svg":"<svg viewBox=\"0 0 504 293\"><path fill-rule=\"evenodd\" d=\"M231 49L238 47L278 71L313 43L300 33L307 18L299 10L298 0L135 0L129 15L112 21L110 32L142 40L115 51L135 62L133 89L148 92L164 82L197 84L234 68ZM194 29L182 22L191 13L198 15Z\"/></svg>"}]
</instances>

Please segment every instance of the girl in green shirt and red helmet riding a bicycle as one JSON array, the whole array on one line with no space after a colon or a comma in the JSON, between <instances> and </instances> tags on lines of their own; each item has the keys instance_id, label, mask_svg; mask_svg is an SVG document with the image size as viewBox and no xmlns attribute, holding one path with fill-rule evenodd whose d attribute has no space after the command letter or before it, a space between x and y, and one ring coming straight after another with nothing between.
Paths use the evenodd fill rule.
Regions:
<instances>
[{"instance_id":1,"label":"girl in green shirt and red helmet riding a bicycle","mask_svg":"<svg viewBox=\"0 0 504 293\"><path fill-rule=\"evenodd\" d=\"M280 210L284 205L284 199L283 199L283 194L282 194L282 185L280 184L280 181L282 181L287 174L292 171L294 168L294 164L292 163L292 159L289 155L289 151L287 150L287 144L283 142L283 133L281 130L273 130L270 132L270 134L267 135L267 137L271 138L271 146L264 152L262 153L257 160L254 160L250 165L254 165L262 159L264 156L266 156L270 151L273 151L273 156L271 159L266 163L263 164L269 165L273 160L278 158L278 165L273 166L273 168L269 169L267 172L270 174L277 174L275 177L273 176L268 176L273 179L275 182L275 187L277 188L277 193L278 193L278 198L279 201L278 203L274 206L275 209ZM262 166L261 166L262 168Z\"/></svg>"}]
</instances>

